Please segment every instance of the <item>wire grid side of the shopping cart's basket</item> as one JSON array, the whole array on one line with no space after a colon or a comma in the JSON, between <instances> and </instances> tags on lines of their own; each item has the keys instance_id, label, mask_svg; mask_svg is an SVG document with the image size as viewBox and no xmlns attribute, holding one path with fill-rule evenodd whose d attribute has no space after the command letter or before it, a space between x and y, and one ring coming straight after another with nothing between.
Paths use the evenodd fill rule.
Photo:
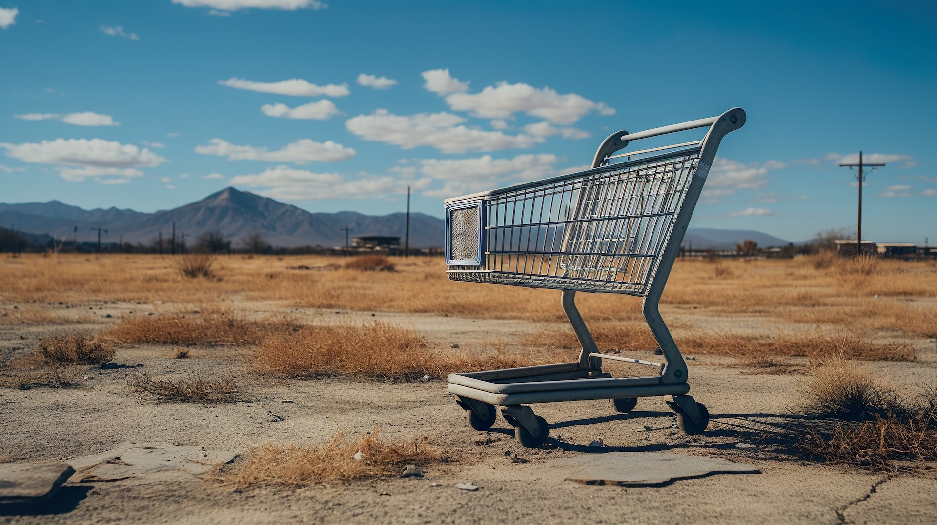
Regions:
<instances>
[{"instance_id":1,"label":"wire grid side of the shopping cart's basket","mask_svg":"<svg viewBox=\"0 0 937 525\"><path fill-rule=\"evenodd\" d=\"M700 148L483 197L483 261L450 278L644 295ZM452 234L452 232L450 232Z\"/></svg>"}]
</instances>

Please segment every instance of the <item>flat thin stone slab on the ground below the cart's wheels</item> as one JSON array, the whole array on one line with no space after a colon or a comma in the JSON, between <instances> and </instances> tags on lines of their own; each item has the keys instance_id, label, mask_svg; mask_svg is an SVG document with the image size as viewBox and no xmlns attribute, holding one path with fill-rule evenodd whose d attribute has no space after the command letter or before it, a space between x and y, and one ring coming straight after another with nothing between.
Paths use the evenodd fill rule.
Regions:
<instances>
[{"instance_id":1,"label":"flat thin stone slab on the ground below the cart's wheels","mask_svg":"<svg viewBox=\"0 0 937 525\"><path fill-rule=\"evenodd\" d=\"M724 458L659 452L609 452L559 458L551 461L551 467L558 469L567 481L619 487L658 486L714 474L761 473L749 464Z\"/></svg>"}]
</instances>

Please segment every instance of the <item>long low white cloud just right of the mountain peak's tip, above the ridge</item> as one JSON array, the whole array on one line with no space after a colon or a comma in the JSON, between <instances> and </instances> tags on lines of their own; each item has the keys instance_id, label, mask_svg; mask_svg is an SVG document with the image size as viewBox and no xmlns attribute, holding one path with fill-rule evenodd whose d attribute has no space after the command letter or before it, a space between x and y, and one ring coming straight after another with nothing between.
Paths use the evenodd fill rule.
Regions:
<instances>
[{"instance_id":1,"label":"long low white cloud just right of the mountain peak's tip, above the ridge","mask_svg":"<svg viewBox=\"0 0 937 525\"><path fill-rule=\"evenodd\" d=\"M231 186L261 188L258 193L282 200L318 200L349 198L380 198L394 193L406 193L407 187L422 189L432 179L401 180L388 175L362 174L346 180L339 173L314 173L289 166L267 168L262 173L237 175Z\"/></svg>"}]
</instances>

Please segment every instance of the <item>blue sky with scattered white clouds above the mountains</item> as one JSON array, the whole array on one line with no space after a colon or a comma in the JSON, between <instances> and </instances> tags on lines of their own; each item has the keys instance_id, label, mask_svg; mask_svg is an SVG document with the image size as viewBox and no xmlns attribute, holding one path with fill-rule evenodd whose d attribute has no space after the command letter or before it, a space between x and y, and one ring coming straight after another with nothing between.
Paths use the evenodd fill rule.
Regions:
<instances>
[{"instance_id":1,"label":"blue sky with scattered white clouds above the mountains","mask_svg":"<svg viewBox=\"0 0 937 525\"><path fill-rule=\"evenodd\" d=\"M692 226L937 244L928 3L0 0L0 202L441 216L740 106ZM869 158L869 157L867 157ZM851 186L852 184L852 186Z\"/></svg>"}]
</instances>

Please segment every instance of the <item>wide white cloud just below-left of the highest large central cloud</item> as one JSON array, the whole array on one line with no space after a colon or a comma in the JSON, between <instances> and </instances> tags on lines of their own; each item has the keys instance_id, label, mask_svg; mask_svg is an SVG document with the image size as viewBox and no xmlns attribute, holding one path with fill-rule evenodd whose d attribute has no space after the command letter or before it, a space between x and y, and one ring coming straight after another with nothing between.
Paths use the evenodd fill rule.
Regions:
<instances>
[{"instance_id":1,"label":"wide white cloud just below-left of the highest large central cloud","mask_svg":"<svg viewBox=\"0 0 937 525\"><path fill-rule=\"evenodd\" d=\"M345 127L368 141L396 144L404 149L432 146L443 153L528 148L543 142L543 137L523 133L506 135L501 131L468 128L461 125L465 121L453 113L395 115L377 110L350 118Z\"/></svg>"}]
</instances>

